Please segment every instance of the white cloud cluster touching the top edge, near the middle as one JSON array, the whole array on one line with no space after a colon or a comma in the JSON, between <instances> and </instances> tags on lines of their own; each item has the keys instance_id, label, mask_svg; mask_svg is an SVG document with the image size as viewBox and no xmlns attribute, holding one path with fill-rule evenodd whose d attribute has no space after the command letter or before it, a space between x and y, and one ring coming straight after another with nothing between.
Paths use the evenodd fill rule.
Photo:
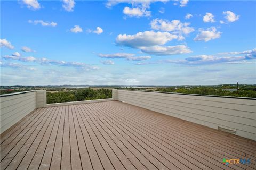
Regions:
<instances>
[{"instance_id":1,"label":"white cloud cluster touching the top edge, near the middle","mask_svg":"<svg viewBox=\"0 0 256 170\"><path fill-rule=\"evenodd\" d=\"M127 3L127 4L131 4L132 7L125 7L123 9L123 13L129 17L147 17L151 15L151 11L149 11L148 9L150 8L150 4L154 3L154 2L167 2L169 0L117 0L117 1L108 1L106 3L106 7L107 8L111 8L119 3Z\"/></svg>"}]
</instances>

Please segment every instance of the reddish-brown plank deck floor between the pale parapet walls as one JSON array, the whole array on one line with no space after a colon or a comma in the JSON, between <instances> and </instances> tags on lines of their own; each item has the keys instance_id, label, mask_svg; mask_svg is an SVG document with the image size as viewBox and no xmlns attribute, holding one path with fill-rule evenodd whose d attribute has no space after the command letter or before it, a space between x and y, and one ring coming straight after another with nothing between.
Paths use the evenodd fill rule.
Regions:
<instances>
[{"instance_id":1,"label":"reddish-brown plank deck floor between the pale parapet walls","mask_svg":"<svg viewBox=\"0 0 256 170\"><path fill-rule=\"evenodd\" d=\"M222 159L250 164L222 164ZM256 142L108 101L39 108L1 134L1 169L256 169Z\"/></svg>"}]
</instances>

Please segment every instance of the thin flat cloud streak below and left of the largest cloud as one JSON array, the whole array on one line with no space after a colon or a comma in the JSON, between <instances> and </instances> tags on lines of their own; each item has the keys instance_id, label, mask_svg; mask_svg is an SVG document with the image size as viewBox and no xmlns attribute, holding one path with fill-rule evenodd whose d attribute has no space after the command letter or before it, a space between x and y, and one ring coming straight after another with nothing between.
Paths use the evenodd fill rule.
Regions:
<instances>
[{"instance_id":1,"label":"thin flat cloud streak below and left of the largest cloud","mask_svg":"<svg viewBox=\"0 0 256 170\"><path fill-rule=\"evenodd\" d=\"M151 56L135 56L132 53L98 54L102 58L125 58L126 60L141 61L148 60Z\"/></svg>"}]
</instances>

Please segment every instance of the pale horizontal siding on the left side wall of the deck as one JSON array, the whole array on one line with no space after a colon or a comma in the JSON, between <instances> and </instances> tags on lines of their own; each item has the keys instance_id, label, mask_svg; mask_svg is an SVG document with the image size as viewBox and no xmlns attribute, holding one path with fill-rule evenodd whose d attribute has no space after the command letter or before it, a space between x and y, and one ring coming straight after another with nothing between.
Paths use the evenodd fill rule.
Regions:
<instances>
[{"instance_id":1,"label":"pale horizontal siding on the left side wall of the deck","mask_svg":"<svg viewBox=\"0 0 256 170\"><path fill-rule=\"evenodd\" d=\"M36 108L36 91L4 96L1 100L1 133Z\"/></svg>"}]
</instances>

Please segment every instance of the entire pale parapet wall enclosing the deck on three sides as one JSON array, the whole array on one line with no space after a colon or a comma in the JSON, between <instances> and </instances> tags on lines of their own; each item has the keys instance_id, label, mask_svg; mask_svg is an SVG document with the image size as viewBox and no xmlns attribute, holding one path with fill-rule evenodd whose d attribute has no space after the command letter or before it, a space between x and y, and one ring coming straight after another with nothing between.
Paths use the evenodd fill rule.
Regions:
<instances>
[{"instance_id":1,"label":"entire pale parapet wall enclosing the deck on three sides","mask_svg":"<svg viewBox=\"0 0 256 170\"><path fill-rule=\"evenodd\" d=\"M113 89L110 99L46 104L46 90L35 90L1 95L0 100L1 133L36 108L119 100L210 128L233 130L239 136L256 140L256 100L253 98Z\"/></svg>"}]
</instances>

